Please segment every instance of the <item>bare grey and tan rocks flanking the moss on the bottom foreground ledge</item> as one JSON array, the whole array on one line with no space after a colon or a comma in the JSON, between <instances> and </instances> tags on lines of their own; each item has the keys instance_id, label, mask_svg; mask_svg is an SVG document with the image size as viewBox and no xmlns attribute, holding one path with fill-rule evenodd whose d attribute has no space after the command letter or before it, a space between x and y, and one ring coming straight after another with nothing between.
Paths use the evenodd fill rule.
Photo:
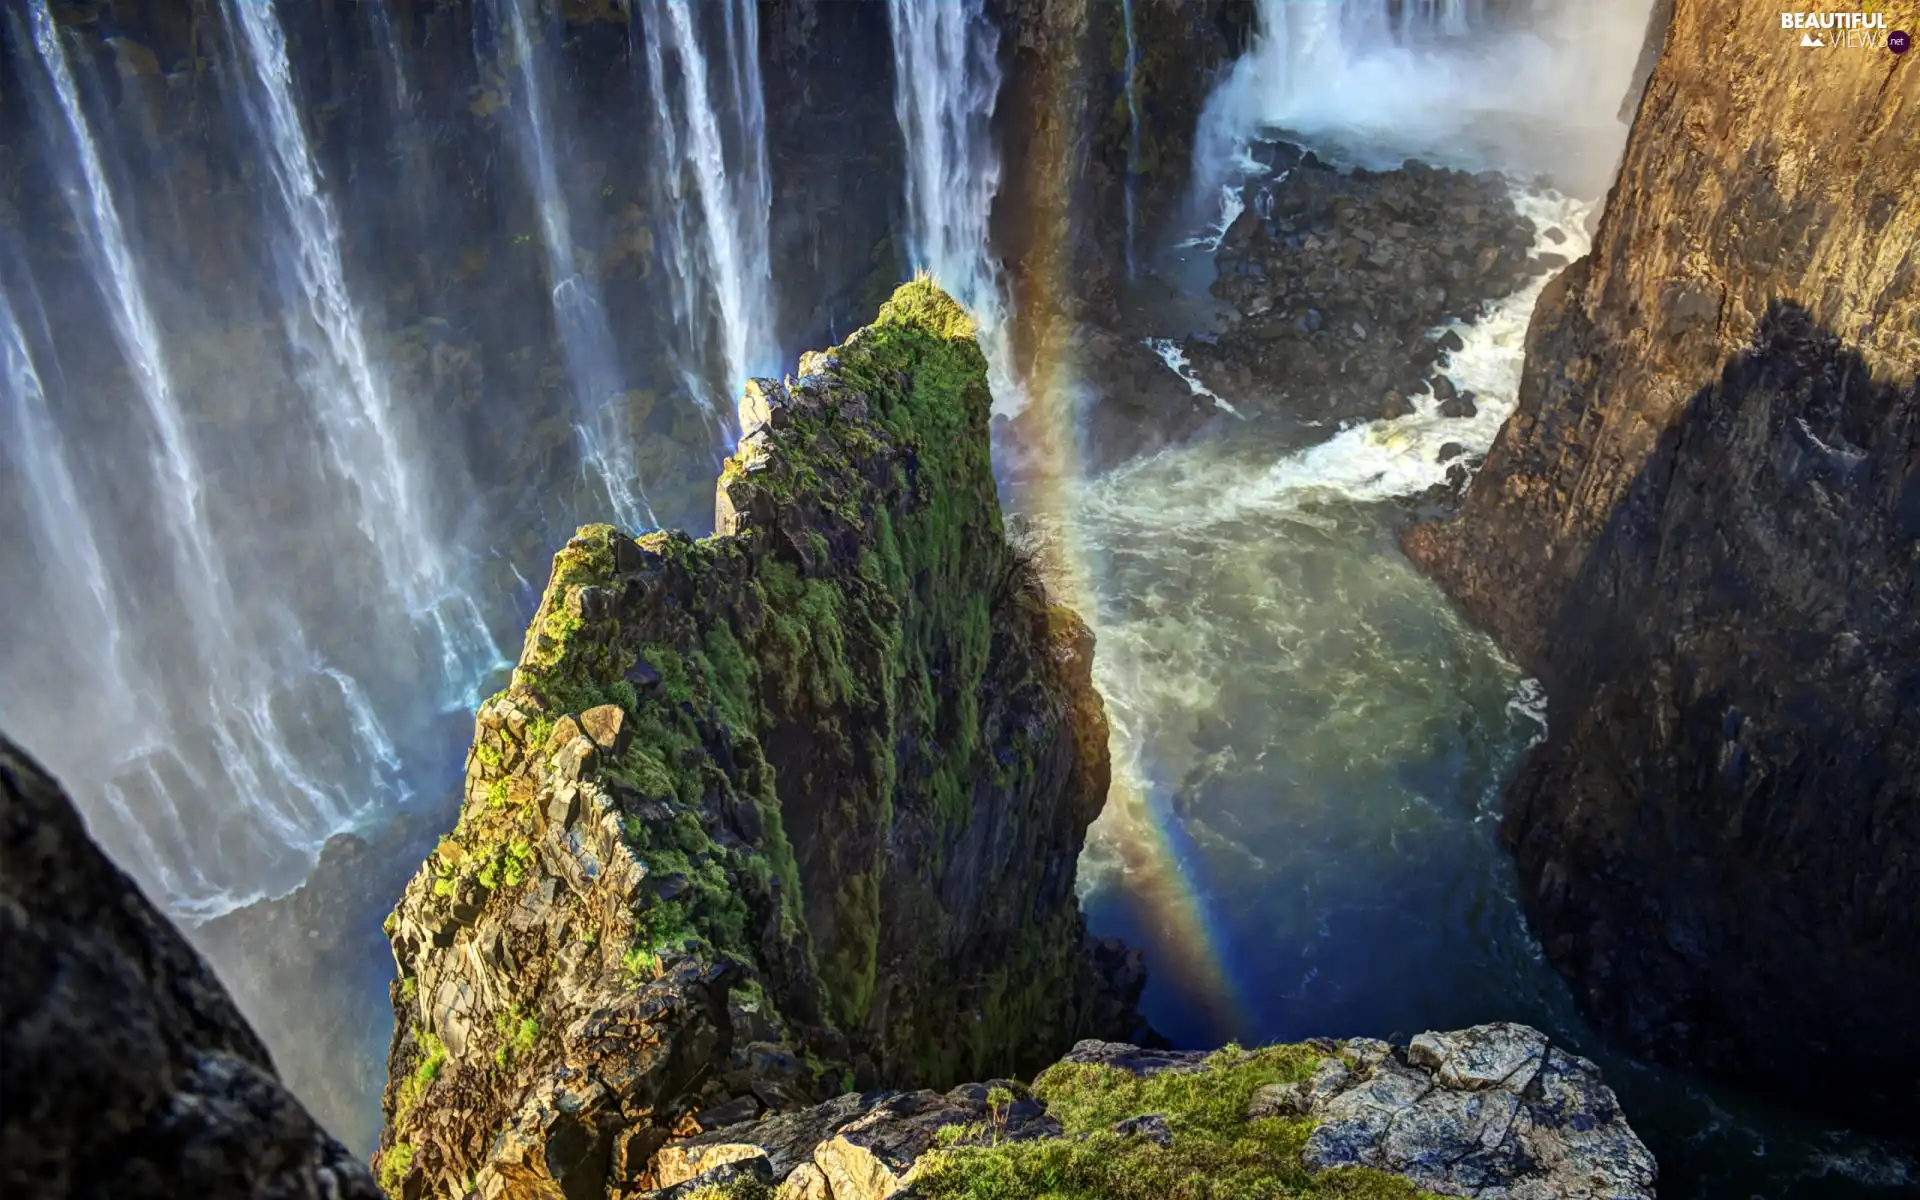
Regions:
<instances>
[{"instance_id":1,"label":"bare grey and tan rocks flanking the moss on the bottom foreground ledge","mask_svg":"<svg viewBox=\"0 0 1920 1200\"><path fill-rule=\"evenodd\" d=\"M1246 1108L1248 1121L1317 1121L1300 1156L1308 1171L1371 1167L1427 1192L1484 1200L1653 1198L1653 1156L1599 1069L1538 1029L1475 1025L1423 1033L1405 1048L1373 1039L1309 1044L1325 1052L1311 1077L1261 1087ZM1066 1062L1135 1077L1213 1069L1200 1052L1096 1041L1077 1044ZM708 1188L772 1188L780 1200L914 1196L933 1150L979 1144L989 1125L996 1146L1071 1137L1041 1100L1006 1081L945 1094L847 1094L668 1144L653 1160L659 1190L645 1200L687 1200ZM1179 1117L1144 1112L1114 1133L1169 1146L1183 1129Z\"/></svg>"}]
</instances>

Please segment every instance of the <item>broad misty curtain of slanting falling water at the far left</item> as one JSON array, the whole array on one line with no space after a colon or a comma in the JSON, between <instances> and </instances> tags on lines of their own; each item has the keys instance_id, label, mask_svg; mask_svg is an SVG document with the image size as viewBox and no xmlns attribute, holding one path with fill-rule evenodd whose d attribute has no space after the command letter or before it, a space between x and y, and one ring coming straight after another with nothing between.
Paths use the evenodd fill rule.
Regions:
<instances>
[{"instance_id":1,"label":"broad misty curtain of slanting falling water at the far left","mask_svg":"<svg viewBox=\"0 0 1920 1200\"><path fill-rule=\"evenodd\" d=\"M154 113L109 104L92 35L46 0L0 15L40 132L25 179L65 217L46 246L0 238L0 511L25 524L0 543L0 724L179 916L296 885L403 801L436 685L465 705L499 662L349 286L280 12L221 12L205 119L261 186L207 207L271 300L207 296L163 242L188 192L132 186Z\"/></svg>"}]
</instances>

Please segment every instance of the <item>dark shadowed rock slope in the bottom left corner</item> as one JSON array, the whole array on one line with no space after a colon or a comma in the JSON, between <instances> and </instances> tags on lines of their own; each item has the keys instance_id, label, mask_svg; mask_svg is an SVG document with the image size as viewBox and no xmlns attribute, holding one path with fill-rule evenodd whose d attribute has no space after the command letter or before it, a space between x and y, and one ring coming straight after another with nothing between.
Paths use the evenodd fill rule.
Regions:
<instances>
[{"instance_id":1,"label":"dark shadowed rock slope in the bottom left corner","mask_svg":"<svg viewBox=\"0 0 1920 1200\"><path fill-rule=\"evenodd\" d=\"M0 1192L376 1200L227 989L0 737Z\"/></svg>"}]
</instances>

